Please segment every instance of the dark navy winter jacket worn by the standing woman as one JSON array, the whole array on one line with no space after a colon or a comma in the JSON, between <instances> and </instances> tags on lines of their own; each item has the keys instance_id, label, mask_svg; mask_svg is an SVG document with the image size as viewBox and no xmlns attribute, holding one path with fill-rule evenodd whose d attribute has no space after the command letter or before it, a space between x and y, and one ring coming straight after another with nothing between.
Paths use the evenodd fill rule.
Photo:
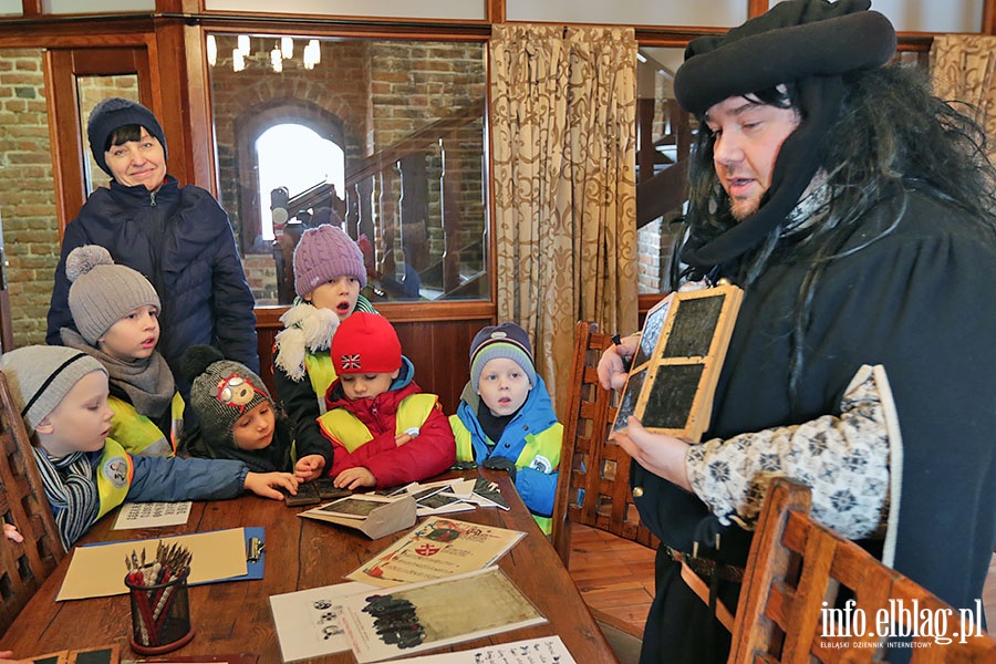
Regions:
<instances>
[{"instance_id":1,"label":"dark navy winter jacket worn by the standing woman","mask_svg":"<svg viewBox=\"0 0 996 664\"><path fill-rule=\"evenodd\" d=\"M179 361L191 345L214 345L229 360L259 372L256 302L228 215L210 193L193 185L180 187L167 175L154 193L112 180L110 189L91 194L65 227L49 309L50 344L61 344L61 328L75 329L65 258L83 245L106 248L116 263L138 270L155 287L163 305L158 350L184 398L189 385L178 371Z\"/></svg>"}]
</instances>

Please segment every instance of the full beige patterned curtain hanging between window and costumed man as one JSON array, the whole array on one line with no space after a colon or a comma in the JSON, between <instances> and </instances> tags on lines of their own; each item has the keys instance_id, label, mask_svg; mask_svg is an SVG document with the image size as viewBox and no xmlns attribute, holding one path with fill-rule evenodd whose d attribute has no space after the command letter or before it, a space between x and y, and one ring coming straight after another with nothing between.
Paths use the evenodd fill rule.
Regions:
<instances>
[{"instance_id":1,"label":"full beige patterned curtain hanging between window and costumed man","mask_svg":"<svg viewBox=\"0 0 996 664\"><path fill-rule=\"evenodd\" d=\"M562 416L574 323L636 328L636 40L498 24L490 60L498 318L529 333Z\"/></svg>"}]
</instances>

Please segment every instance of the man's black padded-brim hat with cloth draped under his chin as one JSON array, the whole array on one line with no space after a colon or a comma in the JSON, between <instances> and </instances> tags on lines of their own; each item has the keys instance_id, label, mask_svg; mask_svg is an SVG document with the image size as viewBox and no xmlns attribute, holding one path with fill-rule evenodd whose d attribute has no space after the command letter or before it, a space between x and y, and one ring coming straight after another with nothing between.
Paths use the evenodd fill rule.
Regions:
<instances>
[{"instance_id":1,"label":"man's black padded-brim hat with cloth draped under his chin","mask_svg":"<svg viewBox=\"0 0 996 664\"><path fill-rule=\"evenodd\" d=\"M685 49L674 77L678 104L703 116L732 96L795 83L799 127L782 143L771 186L753 216L701 247L685 247L693 267L720 264L759 245L781 224L822 159L821 144L840 114L842 75L882 66L895 53L892 23L870 0L785 0L724 35Z\"/></svg>"}]
</instances>

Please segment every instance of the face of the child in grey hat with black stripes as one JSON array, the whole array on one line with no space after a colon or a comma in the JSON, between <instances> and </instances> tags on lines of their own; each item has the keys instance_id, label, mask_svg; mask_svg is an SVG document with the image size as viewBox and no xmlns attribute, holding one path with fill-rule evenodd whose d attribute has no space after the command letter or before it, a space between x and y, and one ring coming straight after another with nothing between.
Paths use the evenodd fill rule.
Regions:
<instances>
[{"instance_id":1,"label":"face of the child in grey hat with black stripes","mask_svg":"<svg viewBox=\"0 0 996 664\"><path fill-rule=\"evenodd\" d=\"M114 411L107 405L107 374L92 371L38 425L39 440L53 458L104 447Z\"/></svg>"}]
</instances>

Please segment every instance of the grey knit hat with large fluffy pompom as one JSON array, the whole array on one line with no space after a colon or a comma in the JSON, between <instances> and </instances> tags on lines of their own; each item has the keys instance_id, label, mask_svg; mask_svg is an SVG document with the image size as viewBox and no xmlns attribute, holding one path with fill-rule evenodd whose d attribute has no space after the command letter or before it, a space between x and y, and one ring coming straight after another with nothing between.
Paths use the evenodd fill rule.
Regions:
<instances>
[{"instance_id":1,"label":"grey knit hat with large fluffy pompom","mask_svg":"<svg viewBox=\"0 0 996 664\"><path fill-rule=\"evenodd\" d=\"M162 309L156 289L142 272L118 266L104 247L84 245L65 259L70 311L86 343L96 345L111 325L149 304Z\"/></svg>"}]
</instances>

